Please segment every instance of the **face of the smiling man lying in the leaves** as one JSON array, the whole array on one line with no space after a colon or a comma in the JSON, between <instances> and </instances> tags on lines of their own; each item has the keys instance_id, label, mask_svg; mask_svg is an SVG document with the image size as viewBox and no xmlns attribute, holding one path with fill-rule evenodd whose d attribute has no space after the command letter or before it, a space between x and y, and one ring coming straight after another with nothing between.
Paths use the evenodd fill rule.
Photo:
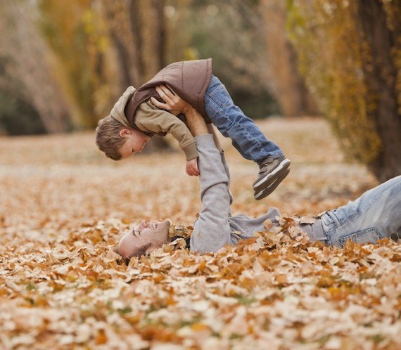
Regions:
<instances>
[{"instance_id":1,"label":"face of the smiling man lying in the leaves","mask_svg":"<svg viewBox=\"0 0 401 350\"><path fill-rule=\"evenodd\" d=\"M147 222L141 221L139 226L127 231L118 243L118 253L124 257L132 257L133 254L142 251L142 254L160 248L170 242L170 221Z\"/></svg>"}]
</instances>

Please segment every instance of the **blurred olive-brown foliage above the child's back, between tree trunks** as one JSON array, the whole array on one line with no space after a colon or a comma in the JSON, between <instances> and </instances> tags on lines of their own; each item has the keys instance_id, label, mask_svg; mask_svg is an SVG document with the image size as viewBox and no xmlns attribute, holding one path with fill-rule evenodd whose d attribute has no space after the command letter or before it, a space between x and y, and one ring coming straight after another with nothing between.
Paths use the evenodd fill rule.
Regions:
<instances>
[{"instance_id":1,"label":"blurred olive-brown foliage above the child's back, between tree trunks","mask_svg":"<svg viewBox=\"0 0 401 350\"><path fill-rule=\"evenodd\" d=\"M191 33L185 59L213 58L213 72L250 117L280 112L267 69L259 1L193 0L185 31Z\"/></svg>"}]
</instances>

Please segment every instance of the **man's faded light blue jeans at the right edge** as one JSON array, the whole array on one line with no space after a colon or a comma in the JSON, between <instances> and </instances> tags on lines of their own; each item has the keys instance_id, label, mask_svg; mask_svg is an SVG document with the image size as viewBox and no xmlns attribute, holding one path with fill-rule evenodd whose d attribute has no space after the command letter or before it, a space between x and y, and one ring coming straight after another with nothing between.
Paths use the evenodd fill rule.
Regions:
<instances>
[{"instance_id":1,"label":"man's faded light blue jeans at the right edge","mask_svg":"<svg viewBox=\"0 0 401 350\"><path fill-rule=\"evenodd\" d=\"M354 202L322 215L326 244L343 247L347 240L363 244L400 238L401 176L365 192Z\"/></svg>"}]
</instances>

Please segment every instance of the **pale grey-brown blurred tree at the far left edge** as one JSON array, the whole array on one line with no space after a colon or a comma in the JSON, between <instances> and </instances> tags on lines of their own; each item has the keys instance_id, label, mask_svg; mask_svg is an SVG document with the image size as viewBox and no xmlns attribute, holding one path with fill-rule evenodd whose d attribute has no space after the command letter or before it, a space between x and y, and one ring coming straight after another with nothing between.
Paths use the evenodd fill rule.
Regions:
<instances>
[{"instance_id":1,"label":"pale grey-brown blurred tree at the far left edge","mask_svg":"<svg viewBox=\"0 0 401 350\"><path fill-rule=\"evenodd\" d=\"M30 119L32 133L42 127L49 132L62 132L70 127L68 108L51 74L51 55L35 26L36 18L32 1L1 1L0 88L6 91L2 101L10 98L10 105L15 107L14 110L3 110L7 116L5 129L10 132L14 132L11 131L13 119L16 125L21 124L21 120L16 120L18 118ZM24 115L19 115L20 112ZM32 121L38 115L40 122L33 127ZM5 123L5 119L2 121ZM23 133L29 134L29 128Z\"/></svg>"}]
</instances>

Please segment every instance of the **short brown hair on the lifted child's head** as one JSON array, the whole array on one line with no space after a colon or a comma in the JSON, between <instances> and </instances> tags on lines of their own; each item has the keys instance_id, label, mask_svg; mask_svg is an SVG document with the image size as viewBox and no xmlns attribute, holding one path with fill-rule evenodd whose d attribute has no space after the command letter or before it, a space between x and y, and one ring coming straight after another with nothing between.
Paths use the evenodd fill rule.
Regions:
<instances>
[{"instance_id":1,"label":"short brown hair on the lifted child's head","mask_svg":"<svg viewBox=\"0 0 401 350\"><path fill-rule=\"evenodd\" d=\"M112 160L120 160L120 147L124 145L126 138L120 136L120 131L127 129L125 125L117 122L108 115L98 121L96 128L96 145L105 153L106 157Z\"/></svg>"}]
</instances>

